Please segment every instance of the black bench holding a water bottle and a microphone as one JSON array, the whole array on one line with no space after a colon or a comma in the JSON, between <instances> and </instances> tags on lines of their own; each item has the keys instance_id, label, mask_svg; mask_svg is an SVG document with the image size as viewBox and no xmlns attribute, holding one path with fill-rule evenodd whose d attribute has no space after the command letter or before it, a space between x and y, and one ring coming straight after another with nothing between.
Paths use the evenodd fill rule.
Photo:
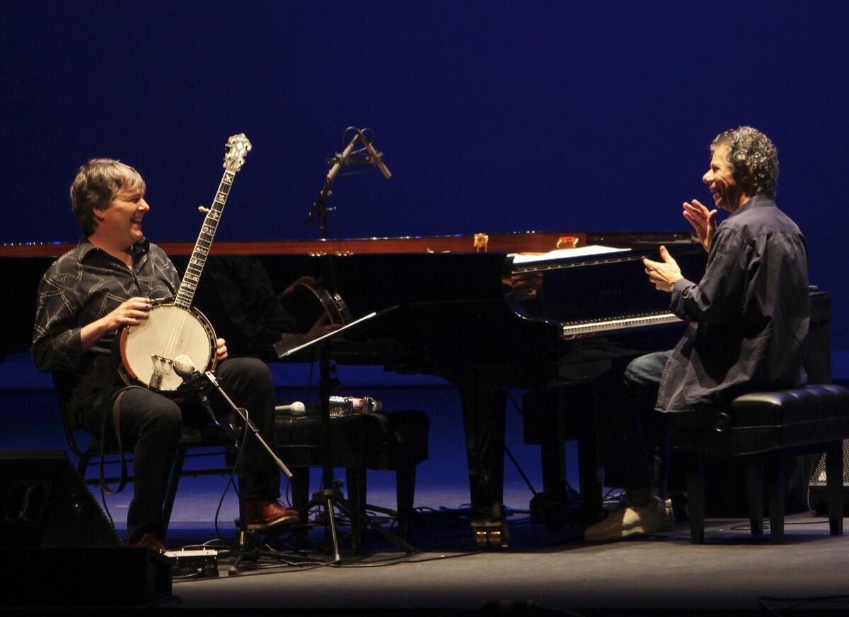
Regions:
<instances>
[{"instance_id":1,"label":"black bench holding a water bottle and a microphone","mask_svg":"<svg viewBox=\"0 0 849 617\"><path fill-rule=\"evenodd\" d=\"M292 505L306 517L309 468L323 466L321 418L278 412L274 418L278 455L292 471ZM364 413L331 418L330 463L346 469L347 498L354 508L366 510L367 470L396 474L399 535L409 541L416 486L416 465L428 458L430 418L418 409ZM351 544L359 554L365 524L351 521Z\"/></svg>"}]
</instances>

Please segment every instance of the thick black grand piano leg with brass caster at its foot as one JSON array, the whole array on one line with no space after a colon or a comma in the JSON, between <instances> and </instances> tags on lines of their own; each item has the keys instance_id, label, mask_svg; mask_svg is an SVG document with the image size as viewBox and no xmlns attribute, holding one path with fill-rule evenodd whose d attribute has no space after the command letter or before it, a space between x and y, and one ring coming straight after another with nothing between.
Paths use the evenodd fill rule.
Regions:
<instances>
[{"instance_id":1,"label":"thick black grand piano leg with brass caster at its foot","mask_svg":"<svg viewBox=\"0 0 849 617\"><path fill-rule=\"evenodd\" d=\"M449 379L463 407L475 540L482 550L505 549L509 545L503 505L507 390L480 367L458 367Z\"/></svg>"}]
</instances>

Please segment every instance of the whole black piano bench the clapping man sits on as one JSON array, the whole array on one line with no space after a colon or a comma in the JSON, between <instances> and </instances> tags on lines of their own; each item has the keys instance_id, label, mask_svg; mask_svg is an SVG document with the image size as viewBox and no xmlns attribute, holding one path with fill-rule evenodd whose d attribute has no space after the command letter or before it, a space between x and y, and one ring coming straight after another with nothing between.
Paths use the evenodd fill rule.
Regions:
<instances>
[{"instance_id":1,"label":"whole black piano bench the clapping man sits on","mask_svg":"<svg viewBox=\"0 0 849 617\"><path fill-rule=\"evenodd\" d=\"M784 541L785 461L824 453L829 532L843 534L842 440L849 438L849 390L807 385L797 390L752 392L727 409L673 414L672 445L688 455L690 539L705 541L705 467L711 458L736 457L744 464L751 533L763 533L766 480L770 540Z\"/></svg>"}]
</instances>

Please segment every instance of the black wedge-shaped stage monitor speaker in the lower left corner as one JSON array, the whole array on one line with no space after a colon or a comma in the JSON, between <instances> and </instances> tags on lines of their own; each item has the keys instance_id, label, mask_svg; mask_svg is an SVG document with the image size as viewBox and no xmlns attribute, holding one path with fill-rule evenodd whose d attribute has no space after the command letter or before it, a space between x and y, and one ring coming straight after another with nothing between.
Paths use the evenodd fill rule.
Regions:
<instances>
[{"instance_id":1,"label":"black wedge-shaped stage monitor speaker in the lower left corner","mask_svg":"<svg viewBox=\"0 0 849 617\"><path fill-rule=\"evenodd\" d=\"M0 451L0 547L120 547L63 450Z\"/></svg>"}]
</instances>

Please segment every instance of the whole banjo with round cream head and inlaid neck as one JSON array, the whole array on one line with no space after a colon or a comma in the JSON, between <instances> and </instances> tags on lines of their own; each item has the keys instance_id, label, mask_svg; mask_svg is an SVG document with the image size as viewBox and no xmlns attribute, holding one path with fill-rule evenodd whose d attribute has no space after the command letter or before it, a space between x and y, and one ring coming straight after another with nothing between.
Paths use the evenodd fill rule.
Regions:
<instances>
[{"instance_id":1,"label":"whole banjo with round cream head and inlaid neck","mask_svg":"<svg viewBox=\"0 0 849 617\"><path fill-rule=\"evenodd\" d=\"M206 217L177 295L171 300L155 302L143 323L121 330L118 342L121 365L118 372L127 384L142 385L166 394L174 393L183 384L183 378L174 367L178 357L184 365L190 359L194 363L192 368L196 367L201 373L215 370L215 330L209 320L192 306L192 300L224 204L233 186L233 177L245 164L245 156L250 148L245 133L233 135L227 140L224 175L211 207L201 210L206 211Z\"/></svg>"}]
</instances>

